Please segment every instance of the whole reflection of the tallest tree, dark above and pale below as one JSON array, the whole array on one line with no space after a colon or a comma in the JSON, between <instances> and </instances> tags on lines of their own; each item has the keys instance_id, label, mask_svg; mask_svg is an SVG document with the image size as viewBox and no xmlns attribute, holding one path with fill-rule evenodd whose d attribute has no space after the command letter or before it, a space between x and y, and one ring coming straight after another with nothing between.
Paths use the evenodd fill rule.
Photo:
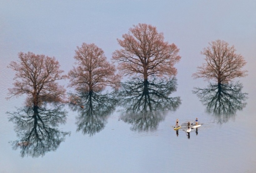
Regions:
<instances>
[{"instance_id":1,"label":"whole reflection of the tallest tree, dark above and pale below","mask_svg":"<svg viewBox=\"0 0 256 173\"><path fill-rule=\"evenodd\" d=\"M154 130L165 119L161 111L176 111L181 104L180 97L169 97L176 91L177 80L172 78L141 81L133 78L122 84L119 92L121 105L126 113L121 120L132 124L132 130Z\"/></svg>"}]
</instances>

